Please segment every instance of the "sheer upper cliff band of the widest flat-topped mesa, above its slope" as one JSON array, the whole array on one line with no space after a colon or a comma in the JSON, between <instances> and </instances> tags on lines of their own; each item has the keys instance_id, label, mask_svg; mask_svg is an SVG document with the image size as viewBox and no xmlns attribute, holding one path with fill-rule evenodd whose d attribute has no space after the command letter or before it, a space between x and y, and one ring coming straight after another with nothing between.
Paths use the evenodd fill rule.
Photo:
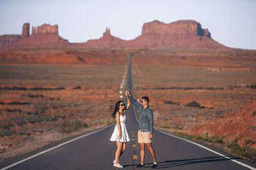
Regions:
<instances>
[{"instance_id":1,"label":"sheer upper cliff band of the widest flat-topped mesa, above its slope","mask_svg":"<svg viewBox=\"0 0 256 170\"><path fill-rule=\"evenodd\" d=\"M176 36L208 36L210 32L201 28L201 24L194 20L179 20L170 24L165 24L154 20L148 22L142 27L142 35L145 34L167 34Z\"/></svg>"}]
</instances>

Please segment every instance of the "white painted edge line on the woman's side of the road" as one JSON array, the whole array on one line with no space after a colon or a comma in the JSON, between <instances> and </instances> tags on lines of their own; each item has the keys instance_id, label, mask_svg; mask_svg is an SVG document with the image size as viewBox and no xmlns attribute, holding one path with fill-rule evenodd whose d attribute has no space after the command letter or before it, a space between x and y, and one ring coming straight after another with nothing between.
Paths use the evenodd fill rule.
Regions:
<instances>
[{"instance_id":1,"label":"white painted edge line on the woman's side of the road","mask_svg":"<svg viewBox=\"0 0 256 170\"><path fill-rule=\"evenodd\" d=\"M113 125L110 125L110 126L113 126ZM0 169L0 170L9 169L10 167L14 167L15 165L18 165L18 164L20 164L20 163L23 163L23 162L25 162L25 161L28 161L29 159L32 159L32 158L34 158L34 157L37 157L37 156L39 156L39 155L42 155L42 154L47 153L47 152L49 152L49 151L52 151L52 150L55 149L55 148L59 148L59 147L65 145L65 144L68 144L68 143L70 143L70 142L73 142L73 141L75 141L75 140L78 140L79 138L84 138L84 137L89 136L89 135L91 135L91 134L95 134L95 133L97 133L97 132L100 132L100 131L102 131L102 130L104 130L104 129L110 127L110 126L106 126L106 127L101 128L101 129L99 129L99 130L96 130L96 131L94 131L94 132L90 132L90 133L88 133L88 134L84 134L84 135L79 136L79 137L77 137L77 138L73 138L72 140L68 140L67 142L64 142L64 143L62 143L62 144L59 144L59 145L57 145L57 146L54 146L53 148L49 148L49 149L47 149L47 150L45 150L45 151L42 151L42 152L40 152L40 153L38 153L38 154L36 154L36 155L33 155L33 156L28 157L28 158L26 158L26 159L23 159L22 161L18 161L17 163L13 163L13 164L11 164L11 165L9 165L9 166L7 166L7 167L4 167L3 169Z\"/></svg>"}]
</instances>

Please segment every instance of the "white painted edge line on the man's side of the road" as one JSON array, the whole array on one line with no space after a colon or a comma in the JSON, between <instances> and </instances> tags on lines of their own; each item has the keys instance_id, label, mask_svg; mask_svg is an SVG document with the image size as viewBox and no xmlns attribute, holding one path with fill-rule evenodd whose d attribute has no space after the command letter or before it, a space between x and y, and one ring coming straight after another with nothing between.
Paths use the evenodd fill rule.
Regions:
<instances>
[{"instance_id":1,"label":"white painted edge line on the man's side of the road","mask_svg":"<svg viewBox=\"0 0 256 170\"><path fill-rule=\"evenodd\" d=\"M179 139L181 139L181 140L185 140L185 141L187 141L187 142L190 142L190 143L192 143L192 144L195 144L195 145L197 145L197 146L199 146L199 147L201 147L201 148L206 149L207 151L210 151L210 152L212 152L212 153L215 153L216 155L220 155L220 156L222 156L222 157L224 157L224 158L226 158L226 159L229 159L230 161L233 161L234 163L238 163L239 165L242 165L242 166L247 167L247 168L249 168L249 169L256 170L254 167L251 167L251 166L249 166L249 165L246 165L245 163L241 163L241 162L239 162L239 161L236 161L236 160L234 160L234 159L232 159L232 158L230 158L230 157L226 157L225 155L222 155L221 153L218 153L218 152L216 152L216 151L213 151L213 150L210 149L210 148L207 148L207 147L205 147L205 146L202 146L201 144L197 144L196 142L192 142L192 141L190 141L190 140L187 140L187 139L185 139L185 138L181 138L181 137L179 137L179 136L174 136L174 135L172 135L172 134L168 134L167 132L164 132L164 131L159 130L159 129L157 129L157 130L158 130L159 132L162 132L163 134L167 134L167 135L172 136L172 137L174 137L174 138L179 138Z\"/></svg>"}]
</instances>

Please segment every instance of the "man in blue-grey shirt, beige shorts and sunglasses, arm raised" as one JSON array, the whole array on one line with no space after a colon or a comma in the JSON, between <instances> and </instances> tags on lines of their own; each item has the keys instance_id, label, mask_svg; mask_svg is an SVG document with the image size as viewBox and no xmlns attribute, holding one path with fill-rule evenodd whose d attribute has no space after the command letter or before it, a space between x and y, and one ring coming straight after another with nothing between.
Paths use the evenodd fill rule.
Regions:
<instances>
[{"instance_id":1,"label":"man in blue-grey shirt, beige shorts and sunglasses, arm raised","mask_svg":"<svg viewBox=\"0 0 256 170\"><path fill-rule=\"evenodd\" d=\"M137 167L144 167L144 158L145 158L145 144L150 151L150 155L153 159L152 168L156 168L158 163L156 162L156 154L154 148L151 145L151 140L153 138L154 131L154 121L153 121L153 112L149 107L150 99L148 97L142 97L141 104L135 101L129 91L127 91L129 100L133 103L140 112L139 118L139 131L138 131L138 143L140 150L140 159L141 163Z\"/></svg>"}]
</instances>

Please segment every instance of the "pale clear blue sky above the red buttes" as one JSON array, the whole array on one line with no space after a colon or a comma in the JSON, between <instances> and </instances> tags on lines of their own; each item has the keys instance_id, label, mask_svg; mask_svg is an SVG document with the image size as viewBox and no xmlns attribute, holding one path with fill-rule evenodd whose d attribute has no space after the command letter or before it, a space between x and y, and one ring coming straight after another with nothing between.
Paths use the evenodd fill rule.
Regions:
<instances>
[{"instance_id":1,"label":"pale clear blue sky above the red buttes","mask_svg":"<svg viewBox=\"0 0 256 170\"><path fill-rule=\"evenodd\" d=\"M232 48L256 49L255 0L0 0L0 35L22 34L24 23L57 24L69 42L113 36L133 40L144 23L193 19Z\"/></svg>"}]
</instances>

